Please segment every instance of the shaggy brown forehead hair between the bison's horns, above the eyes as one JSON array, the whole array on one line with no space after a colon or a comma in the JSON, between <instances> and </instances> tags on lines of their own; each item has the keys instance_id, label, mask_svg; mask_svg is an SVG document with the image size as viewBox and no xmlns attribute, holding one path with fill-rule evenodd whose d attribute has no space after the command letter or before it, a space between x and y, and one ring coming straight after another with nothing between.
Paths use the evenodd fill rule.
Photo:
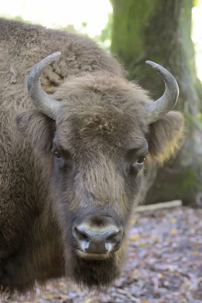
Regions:
<instances>
[{"instance_id":1,"label":"shaggy brown forehead hair between the bison's horns, above the eyes","mask_svg":"<svg viewBox=\"0 0 202 303\"><path fill-rule=\"evenodd\" d=\"M66 91L57 119L60 144L67 149L82 146L109 150L141 145L146 131L144 106L148 98L145 92L125 80L119 79L120 83L115 78L111 82L109 78L96 83L96 79L93 80L85 86L83 81L74 83L74 90L68 83L69 94Z\"/></svg>"}]
</instances>

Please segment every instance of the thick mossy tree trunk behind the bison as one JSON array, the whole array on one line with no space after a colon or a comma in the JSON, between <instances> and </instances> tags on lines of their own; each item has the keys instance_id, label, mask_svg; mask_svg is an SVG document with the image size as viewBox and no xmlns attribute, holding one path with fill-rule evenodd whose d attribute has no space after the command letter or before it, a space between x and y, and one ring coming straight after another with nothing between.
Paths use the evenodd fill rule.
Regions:
<instances>
[{"instance_id":1,"label":"thick mossy tree trunk behind the bison","mask_svg":"<svg viewBox=\"0 0 202 303\"><path fill-rule=\"evenodd\" d=\"M191 40L191 0L114 0L111 50L118 55L131 80L159 98L164 82L146 60L168 69L180 94L176 110L186 119L180 150L164 167L147 172L146 204L182 199L202 207L202 85L197 78Z\"/></svg>"}]
</instances>

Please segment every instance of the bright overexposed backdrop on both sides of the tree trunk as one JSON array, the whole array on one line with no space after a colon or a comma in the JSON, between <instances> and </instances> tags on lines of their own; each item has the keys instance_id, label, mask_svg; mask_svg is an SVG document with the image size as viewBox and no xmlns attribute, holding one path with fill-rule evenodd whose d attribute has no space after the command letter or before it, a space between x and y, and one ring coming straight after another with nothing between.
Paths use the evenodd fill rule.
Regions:
<instances>
[{"instance_id":1,"label":"bright overexposed backdrop on both sides of the tree trunk","mask_svg":"<svg viewBox=\"0 0 202 303\"><path fill-rule=\"evenodd\" d=\"M111 43L112 12L109 0L6 0L0 6L1 17L81 32L99 41L105 48L109 48ZM196 68L202 81L202 1L198 1L193 8L192 20Z\"/></svg>"}]
</instances>

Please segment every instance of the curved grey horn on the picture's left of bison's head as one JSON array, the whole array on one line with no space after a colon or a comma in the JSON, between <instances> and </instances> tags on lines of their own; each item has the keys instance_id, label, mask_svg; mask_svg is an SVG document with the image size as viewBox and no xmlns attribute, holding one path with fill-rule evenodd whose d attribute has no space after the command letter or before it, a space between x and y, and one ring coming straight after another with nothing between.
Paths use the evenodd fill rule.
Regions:
<instances>
[{"instance_id":1,"label":"curved grey horn on the picture's left of bison's head","mask_svg":"<svg viewBox=\"0 0 202 303\"><path fill-rule=\"evenodd\" d=\"M43 91L41 88L40 80L45 67L60 55L61 53L57 52L41 60L34 66L27 78L27 90L32 103L39 110L41 110L43 114L54 120L56 119L56 114L60 107L60 102Z\"/></svg>"}]
</instances>

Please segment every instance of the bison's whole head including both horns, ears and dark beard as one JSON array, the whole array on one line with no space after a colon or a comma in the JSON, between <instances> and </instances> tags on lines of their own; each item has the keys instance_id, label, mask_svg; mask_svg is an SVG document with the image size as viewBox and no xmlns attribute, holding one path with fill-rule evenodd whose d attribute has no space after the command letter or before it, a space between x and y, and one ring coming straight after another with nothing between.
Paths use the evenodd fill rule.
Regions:
<instances>
[{"instance_id":1,"label":"bison's whole head including both horns, ears and dark beard","mask_svg":"<svg viewBox=\"0 0 202 303\"><path fill-rule=\"evenodd\" d=\"M17 121L45 159L46 200L57 215L67 275L89 288L105 287L120 275L130 215L144 189L144 163L168 158L181 136L183 118L170 112L178 85L148 61L166 84L155 102L136 83L106 70L68 78L51 96L40 77L58 56L31 71L28 93L37 109Z\"/></svg>"}]
</instances>

